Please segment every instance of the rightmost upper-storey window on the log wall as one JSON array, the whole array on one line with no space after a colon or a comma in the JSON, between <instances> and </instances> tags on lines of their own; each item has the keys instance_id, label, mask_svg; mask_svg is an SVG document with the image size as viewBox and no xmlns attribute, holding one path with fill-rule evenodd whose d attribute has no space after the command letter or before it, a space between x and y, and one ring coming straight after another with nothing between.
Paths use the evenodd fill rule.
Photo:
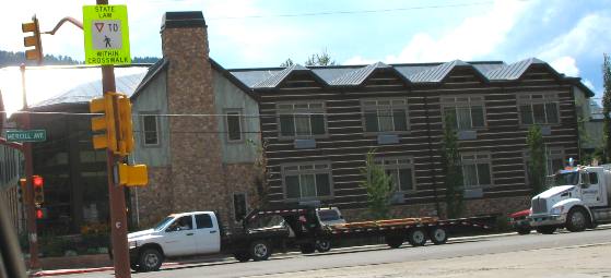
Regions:
<instances>
[{"instance_id":1,"label":"rightmost upper-storey window on the log wall","mask_svg":"<svg viewBox=\"0 0 611 278\"><path fill-rule=\"evenodd\" d=\"M518 97L521 124L555 124L560 122L555 94L532 94Z\"/></svg>"}]
</instances>

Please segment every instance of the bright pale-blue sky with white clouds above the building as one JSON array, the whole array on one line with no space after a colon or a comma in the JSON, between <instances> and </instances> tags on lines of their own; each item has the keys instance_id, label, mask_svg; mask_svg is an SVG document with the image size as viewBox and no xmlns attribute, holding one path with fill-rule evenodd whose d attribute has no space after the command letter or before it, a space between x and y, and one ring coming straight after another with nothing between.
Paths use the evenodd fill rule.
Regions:
<instances>
[{"instance_id":1,"label":"bright pale-blue sky with white clouds above the building","mask_svg":"<svg viewBox=\"0 0 611 278\"><path fill-rule=\"evenodd\" d=\"M611 0L117 0L127 4L132 57L161 57L166 11L202 11L210 56L226 69L304 63L326 51L338 64L505 61L536 57L580 76L600 102L611 52ZM23 51L21 23L43 31L82 21L94 0L3 0L0 50ZM10 7L10 9L8 9ZM45 53L84 60L82 32L43 36Z\"/></svg>"}]
</instances>

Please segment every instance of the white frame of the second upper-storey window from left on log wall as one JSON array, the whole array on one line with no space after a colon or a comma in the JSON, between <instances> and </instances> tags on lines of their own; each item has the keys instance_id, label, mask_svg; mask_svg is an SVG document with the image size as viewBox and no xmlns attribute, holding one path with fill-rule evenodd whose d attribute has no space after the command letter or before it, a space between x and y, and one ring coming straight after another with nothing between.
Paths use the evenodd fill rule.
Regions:
<instances>
[{"instance_id":1,"label":"white frame of the second upper-storey window from left on log wall","mask_svg":"<svg viewBox=\"0 0 611 278\"><path fill-rule=\"evenodd\" d=\"M406 130L396 130L395 128L395 109L402 109L406 113ZM367 131L367 119L366 119L366 111L376 111L376 119L377 119L377 131ZM391 125L392 130L381 130L380 124L380 112L381 111L390 111L391 118ZM365 98L361 99L361 121L363 124L363 132L364 134L406 134L410 132L410 109L409 109L409 101L407 97L402 98Z\"/></svg>"}]
</instances>

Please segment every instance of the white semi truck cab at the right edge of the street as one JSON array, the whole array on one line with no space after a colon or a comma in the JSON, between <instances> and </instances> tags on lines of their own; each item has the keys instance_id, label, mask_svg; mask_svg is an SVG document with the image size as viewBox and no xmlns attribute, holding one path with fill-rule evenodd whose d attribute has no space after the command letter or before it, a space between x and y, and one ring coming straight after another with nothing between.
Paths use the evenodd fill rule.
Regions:
<instances>
[{"instance_id":1,"label":"white semi truck cab at the right edge of the street","mask_svg":"<svg viewBox=\"0 0 611 278\"><path fill-rule=\"evenodd\" d=\"M575 232L611 222L611 165L578 166L551 178L553 186L531 200L529 220L538 232Z\"/></svg>"}]
</instances>

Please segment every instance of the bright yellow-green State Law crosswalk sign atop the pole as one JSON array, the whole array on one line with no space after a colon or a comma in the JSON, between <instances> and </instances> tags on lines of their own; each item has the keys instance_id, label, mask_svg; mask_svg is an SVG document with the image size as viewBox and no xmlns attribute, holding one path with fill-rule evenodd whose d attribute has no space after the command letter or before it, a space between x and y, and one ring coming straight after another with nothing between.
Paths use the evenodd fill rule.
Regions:
<instances>
[{"instance_id":1,"label":"bright yellow-green State Law crosswalk sign atop the pole","mask_svg":"<svg viewBox=\"0 0 611 278\"><path fill-rule=\"evenodd\" d=\"M86 64L130 64L127 5L83 5Z\"/></svg>"}]
</instances>

